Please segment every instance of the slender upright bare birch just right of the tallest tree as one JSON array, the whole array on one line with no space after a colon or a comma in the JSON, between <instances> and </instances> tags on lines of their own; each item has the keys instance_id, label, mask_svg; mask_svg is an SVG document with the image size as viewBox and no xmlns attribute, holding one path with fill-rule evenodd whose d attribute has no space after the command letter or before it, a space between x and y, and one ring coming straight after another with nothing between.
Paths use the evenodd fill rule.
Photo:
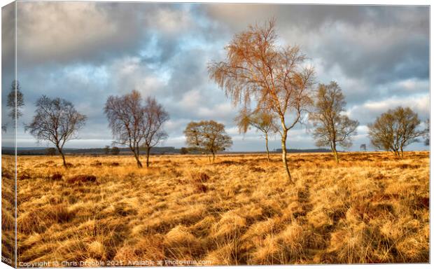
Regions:
<instances>
[{"instance_id":1,"label":"slender upright bare birch just right of the tallest tree","mask_svg":"<svg viewBox=\"0 0 434 269\"><path fill-rule=\"evenodd\" d=\"M309 113L309 119L315 127L316 146L330 146L337 163L339 155L336 146L349 148L352 144L351 137L357 135L358 121L343 114L345 105L342 89L332 81L328 85L318 85L314 111Z\"/></svg>"}]
</instances>

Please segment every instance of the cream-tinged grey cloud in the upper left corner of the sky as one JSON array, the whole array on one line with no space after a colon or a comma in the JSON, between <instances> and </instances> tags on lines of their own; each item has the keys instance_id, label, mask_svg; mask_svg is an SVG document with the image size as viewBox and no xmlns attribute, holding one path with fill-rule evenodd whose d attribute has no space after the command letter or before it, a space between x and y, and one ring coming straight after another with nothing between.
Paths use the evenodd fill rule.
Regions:
<instances>
[{"instance_id":1,"label":"cream-tinged grey cloud in the upper left corner of the sky","mask_svg":"<svg viewBox=\"0 0 434 269\"><path fill-rule=\"evenodd\" d=\"M122 53L134 46L140 32L131 8L118 5L114 13L110 4L97 2L20 2L20 62L66 64Z\"/></svg>"}]
</instances>

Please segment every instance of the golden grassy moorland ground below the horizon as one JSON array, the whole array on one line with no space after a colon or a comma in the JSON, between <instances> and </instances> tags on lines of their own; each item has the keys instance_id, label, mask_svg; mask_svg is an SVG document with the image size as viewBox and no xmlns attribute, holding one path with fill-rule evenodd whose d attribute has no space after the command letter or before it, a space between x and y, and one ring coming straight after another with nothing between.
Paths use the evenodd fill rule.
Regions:
<instances>
[{"instance_id":1,"label":"golden grassy moorland ground below the horizon","mask_svg":"<svg viewBox=\"0 0 434 269\"><path fill-rule=\"evenodd\" d=\"M18 262L428 263L428 152L280 158L19 156Z\"/></svg>"}]
</instances>

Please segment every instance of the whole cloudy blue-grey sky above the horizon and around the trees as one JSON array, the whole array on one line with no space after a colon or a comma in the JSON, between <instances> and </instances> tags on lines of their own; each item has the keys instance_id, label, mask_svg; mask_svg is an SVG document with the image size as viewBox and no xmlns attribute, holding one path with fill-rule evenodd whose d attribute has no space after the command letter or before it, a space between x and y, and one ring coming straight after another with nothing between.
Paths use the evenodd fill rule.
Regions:
<instances>
[{"instance_id":1,"label":"whole cloudy blue-grey sky above the horizon and around the trees","mask_svg":"<svg viewBox=\"0 0 434 269\"><path fill-rule=\"evenodd\" d=\"M13 8L3 8L3 111L13 81L13 15ZM169 138L160 146L186 146L183 130L191 120L216 120L233 139L231 151L264 150L260 133L239 134L233 122L239 109L209 79L207 65L225 60L235 34L270 18L276 19L279 44L300 46L307 55L317 83L336 81L342 88L345 113L360 122L349 150L360 144L372 150L367 124L388 109L409 106L421 120L429 117L428 6L25 1L18 2L17 18L18 81L25 97L18 146L49 146L24 130L41 95L67 99L88 118L66 147L110 145L107 97L138 90L169 112ZM2 122L10 122L4 114ZM316 148L311 134L311 126L297 125L288 148ZM278 135L271 140L270 149L281 148ZM428 147L414 143L407 149Z\"/></svg>"}]
</instances>

